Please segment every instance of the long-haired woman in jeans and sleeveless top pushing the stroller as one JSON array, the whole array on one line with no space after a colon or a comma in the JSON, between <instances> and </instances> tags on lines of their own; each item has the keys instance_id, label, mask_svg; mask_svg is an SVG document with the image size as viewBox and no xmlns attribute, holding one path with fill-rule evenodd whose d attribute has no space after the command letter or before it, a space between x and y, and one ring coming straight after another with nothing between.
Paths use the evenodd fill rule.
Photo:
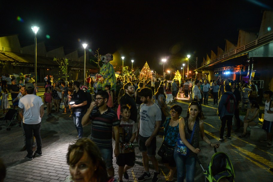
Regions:
<instances>
[{"instance_id":1,"label":"long-haired woman in jeans and sleeveless top pushing the stroller","mask_svg":"<svg viewBox=\"0 0 273 182\"><path fill-rule=\"evenodd\" d=\"M199 135L210 147L219 147L219 144L210 142L209 139L206 137L204 132L204 123L202 119L204 119L204 115L200 104L198 102L191 102L188 107L187 116L179 120L180 138L181 141L189 149L189 154L187 157L184 157L177 152L177 146L174 149L174 160L177 164L178 182L184 181L185 176L187 182L194 181L194 168L196 164L195 157L196 154L199 154L201 152L199 148ZM193 137L191 143L189 143L187 139L191 138L192 132L194 132ZM187 171L187 175L185 171Z\"/></svg>"}]
</instances>

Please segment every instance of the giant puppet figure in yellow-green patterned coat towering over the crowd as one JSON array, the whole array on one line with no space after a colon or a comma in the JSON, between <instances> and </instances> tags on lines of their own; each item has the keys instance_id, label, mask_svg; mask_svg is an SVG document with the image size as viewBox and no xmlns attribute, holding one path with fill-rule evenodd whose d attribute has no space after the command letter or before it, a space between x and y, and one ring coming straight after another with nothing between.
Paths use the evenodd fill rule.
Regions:
<instances>
[{"instance_id":1,"label":"giant puppet figure in yellow-green patterned coat towering over the crowd","mask_svg":"<svg viewBox=\"0 0 273 182\"><path fill-rule=\"evenodd\" d=\"M97 84L97 90L105 90L105 85L111 85L111 91L116 90L116 75L113 65L110 63L112 61L113 55L108 53L105 55L105 63L102 65L99 74L102 75L100 81Z\"/></svg>"}]
</instances>

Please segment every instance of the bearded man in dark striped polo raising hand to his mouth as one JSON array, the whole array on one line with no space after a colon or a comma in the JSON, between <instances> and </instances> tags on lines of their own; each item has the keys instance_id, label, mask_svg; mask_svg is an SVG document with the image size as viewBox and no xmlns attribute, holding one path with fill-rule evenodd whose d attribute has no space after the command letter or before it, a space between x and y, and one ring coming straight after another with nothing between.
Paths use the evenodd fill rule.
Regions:
<instances>
[{"instance_id":1,"label":"bearded man in dark striped polo raising hand to his mouth","mask_svg":"<svg viewBox=\"0 0 273 182\"><path fill-rule=\"evenodd\" d=\"M90 139L99 147L102 158L106 164L109 176L114 177L112 127L115 134L114 154L117 157L119 151L119 125L117 113L107 106L109 95L105 90L96 94L95 101L90 104L87 112L82 118L82 125L91 120L92 130Z\"/></svg>"}]
</instances>

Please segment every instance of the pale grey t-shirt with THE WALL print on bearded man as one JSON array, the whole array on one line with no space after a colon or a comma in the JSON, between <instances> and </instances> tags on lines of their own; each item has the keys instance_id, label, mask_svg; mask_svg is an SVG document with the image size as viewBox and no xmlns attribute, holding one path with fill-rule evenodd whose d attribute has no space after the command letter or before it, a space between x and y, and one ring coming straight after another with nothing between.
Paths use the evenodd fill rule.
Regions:
<instances>
[{"instance_id":1,"label":"pale grey t-shirt with THE WALL print on bearded man","mask_svg":"<svg viewBox=\"0 0 273 182\"><path fill-rule=\"evenodd\" d=\"M140 105L140 129L142 137L150 137L155 130L156 121L161 121L161 110L153 103L151 106Z\"/></svg>"}]
</instances>

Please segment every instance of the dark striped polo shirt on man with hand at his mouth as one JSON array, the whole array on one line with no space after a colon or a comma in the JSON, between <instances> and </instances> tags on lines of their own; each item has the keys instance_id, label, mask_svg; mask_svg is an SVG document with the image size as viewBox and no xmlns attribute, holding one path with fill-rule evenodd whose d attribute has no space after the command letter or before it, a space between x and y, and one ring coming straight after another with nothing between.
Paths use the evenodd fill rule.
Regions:
<instances>
[{"instance_id":1,"label":"dark striped polo shirt on man with hand at his mouth","mask_svg":"<svg viewBox=\"0 0 273 182\"><path fill-rule=\"evenodd\" d=\"M104 113L99 113L99 107L95 107L90 114L92 123L90 139L99 148L112 148L112 127L120 125L117 113L108 107Z\"/></svg>"}]
</instances>

